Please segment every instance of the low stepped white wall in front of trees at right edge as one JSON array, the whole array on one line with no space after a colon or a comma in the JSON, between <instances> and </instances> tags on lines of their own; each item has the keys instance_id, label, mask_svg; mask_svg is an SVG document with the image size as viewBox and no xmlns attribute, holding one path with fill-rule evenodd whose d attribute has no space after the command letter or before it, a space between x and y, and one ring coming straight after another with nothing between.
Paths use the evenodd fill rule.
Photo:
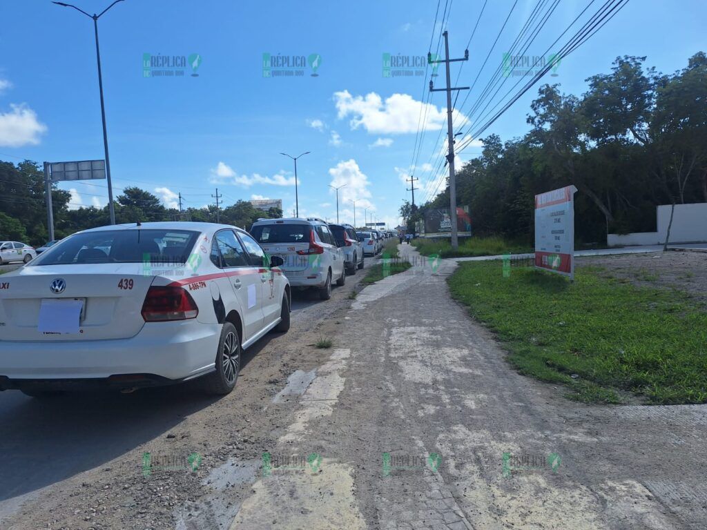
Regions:
<instances>
[{"instance_id":1,"label":"low stepped white wall in front of trees at right edge","mask_svg":"<svg viewBox=\"0 0 707 530\"><path fill-rule=\"evenodd\" d=\"M607 234L609 247L630 245L662 245L665 243L667 225L670 223L670 204L661 204L656 209L658 232L635 232L633 234ZM670 228L670 243L707 242L707 203L676 204Z\"/></svg>"}]
</instances>

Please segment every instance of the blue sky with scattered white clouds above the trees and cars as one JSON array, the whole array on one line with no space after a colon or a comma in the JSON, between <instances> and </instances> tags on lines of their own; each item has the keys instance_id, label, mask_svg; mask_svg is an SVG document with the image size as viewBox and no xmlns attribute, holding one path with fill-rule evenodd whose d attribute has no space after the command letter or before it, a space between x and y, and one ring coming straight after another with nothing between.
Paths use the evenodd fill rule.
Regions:
<instances>
[{"instance_id":1,"label":"blue sky with scattered white clouds above the trees and cars","mask_svg":"<svg viewBox=\"0 0 707 530\"><path fill-rule=\"evenodd\" d=\"M581 94L617 56L647 56L670 73L706 49L703 0L630 0L481 138L469 136L527 70L515 59L504 69L503 53L538 1L543 13L552 4L490 0L481 18L484 0L120 1L98 21L114 195L138 186L165 206L181 193L185 208L198 208L213 204L218 188L223 206L282 199L291 216L293 161L280 153L310 151L298 160L300 216L336 220L332 186L341 187L342 223L354 223L355 201L356 225L365 215L392 228L411 198L409 175L419 178L417 204L444 186L446 98L430 94L428 82L445 86L445 66L430 77L423 64L428 51L443 54L441 30L450 57L464 57L469 45L469 60L450 66L453 86L472 87L453 114L457 144L468 144L457 167L481 153L488 134L525 134L542 83ZM546 60L602 3L560 0L523 55ZM93 14L110 1L74 4ZM0 0L0 20L0 160L104 158L93 21L48 0ZM508 74L498 78L501 90L469 118L496 71ZM71 208L107 204L105 180L60 187L71 191Z\"/></svg>"}]
</instances>

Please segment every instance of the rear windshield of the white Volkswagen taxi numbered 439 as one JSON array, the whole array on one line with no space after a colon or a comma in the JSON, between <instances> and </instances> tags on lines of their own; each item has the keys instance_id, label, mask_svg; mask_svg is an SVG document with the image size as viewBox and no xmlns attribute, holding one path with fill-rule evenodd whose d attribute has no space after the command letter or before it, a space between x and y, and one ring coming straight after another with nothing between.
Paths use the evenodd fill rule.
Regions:
<instances>
[{"instance_id":1,"label":"rear windshield of the white Volkswagen taxi numbered 439","mask_svg":"<svg viewBox=\"0 0 707 530\"><path fill-rule=\"evenodd\" d=\"M100 230L70 235L30 263L68 265L92 263L185 264L199 232L192 230Z\"/></svg>"}]
</instances>

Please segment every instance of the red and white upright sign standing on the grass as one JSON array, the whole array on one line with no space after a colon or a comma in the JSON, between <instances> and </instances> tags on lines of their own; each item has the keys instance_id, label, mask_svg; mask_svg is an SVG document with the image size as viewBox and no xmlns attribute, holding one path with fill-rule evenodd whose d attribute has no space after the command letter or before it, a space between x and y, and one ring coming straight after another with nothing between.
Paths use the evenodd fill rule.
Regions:
<instances>
[{"instance_id":1,"label":"red and white upright sign standing on the grass","mask_svg":"<svg viewBox=\"0 0 707 530\"><path fill-rule=\"evenodd\" d=\"M535 266L574 279L574 194L567 186L535 196Z\"/></svg>"}]
</instances>

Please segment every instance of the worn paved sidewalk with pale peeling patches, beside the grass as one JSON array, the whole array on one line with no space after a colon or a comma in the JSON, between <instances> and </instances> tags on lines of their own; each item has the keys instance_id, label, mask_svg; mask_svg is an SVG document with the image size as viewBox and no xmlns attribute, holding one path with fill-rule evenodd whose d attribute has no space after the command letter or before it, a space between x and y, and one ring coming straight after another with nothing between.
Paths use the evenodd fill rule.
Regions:
<instances>
[{"instance_id":1,"label":"worn paved sidewalk with pale peeling patches, beside the grass","mask_svg":"<svg viewBox=\"0 0 707 530\"><path fill-rule=\"evenodd\" d=\"M232 529L703 530L707 406L585 406L518 375L450 299L456 264L358 294Z\"/></svg>"}]
</instances>

